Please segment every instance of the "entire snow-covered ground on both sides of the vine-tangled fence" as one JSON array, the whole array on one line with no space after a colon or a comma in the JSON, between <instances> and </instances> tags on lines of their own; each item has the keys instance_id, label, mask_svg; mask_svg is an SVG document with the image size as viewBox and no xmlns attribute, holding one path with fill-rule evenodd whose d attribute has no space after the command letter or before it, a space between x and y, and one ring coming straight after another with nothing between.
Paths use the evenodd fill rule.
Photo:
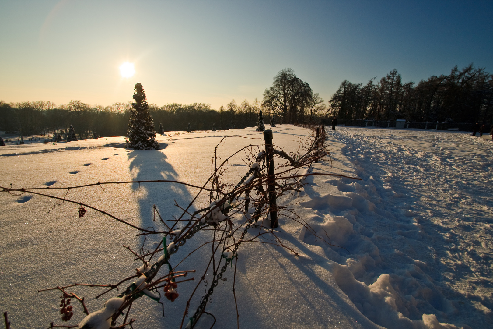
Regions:
<instances>
[{"instance_id":1,"label":"entire snow-covered ground on both sides of the vine-tangled fence","mask_svg":"<svg viewBox=\"0 0 493 329\"><path fill-rule=\"evenodd\" d=\"M274 144L286 151L297 149L299 139L311 135L291 125L273 130ZM490 137L383 128L327 132L333 161L314 164L313 171L362 180L311 176L303 191L279 202L291 204L317 235L343 248L328 246L286 217L280 218L277 236L300 256L267 244L242 245L235 283L240 328L491 328ZM167 134L158 135L163 146L159 151L125 149L118 137L10 143L0 147L0 185L158 179L202 185L212 172L214 146L223 136L254 138L229 137L218 148L223 158L245 145L263 143L253 128ZM248 167L241 155L229 163L223 179L237 183ZM146 227L158 226L152 221L154 204L169 219L179 214L174 200L188 205L195 193L183 185L146 183L75 189L67 198ZM208 203L203 196L197 206ZM54 206L37 195L0 193L0 310L9 312L13 328L62 324L59 294L38 289L74 282L114 284L140 266L121 247L140 247L142 239L134 229L92 210L79 219L77 208ZM179 253L188 254L206 235L197 234ZM180 270L197 269L195 275L200 275L207 255L199 250ZM207 306L217 319L214 328L236 328L234 272L234 267L228 269L228 280L219 282ZM160 304L140 298L132 306L131 316L138 319L134 328L179 328L194 287L194 281L178 285L176 301L164 301L165 318ZM206 287L199 289L198 297ZM86 297L90 311L117 295L95 300L101 288L72 291ZM191 313L197 304L192 299ZM75 304L70 324L83 317ZM196 328L212 323L205 316L200 321Z\"/></svg>"}]
</instances>

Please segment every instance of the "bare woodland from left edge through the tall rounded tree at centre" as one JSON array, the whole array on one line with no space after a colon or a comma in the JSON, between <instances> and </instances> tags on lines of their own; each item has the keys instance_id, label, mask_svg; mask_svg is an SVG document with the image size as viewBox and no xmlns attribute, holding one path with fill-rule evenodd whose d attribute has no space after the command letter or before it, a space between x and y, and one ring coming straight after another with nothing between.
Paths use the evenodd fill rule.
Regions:
<instances>
[{"instance_id":1,"label":"bare woodland from left edge through the tall rounded tree at centre","mask_svg":"<svg viewBox=\"0 0 493 329\"><path fill-rule=\"evenodd\" d=\"M94 132L100 137L125 136L131 109L132 102L116 102L104 107L90 106L79 100L58 106L44 101L15 104L0 101L0 130L51 137L55 132L67 134L73 125L79 139L92 138ZM237 104L232 100L219 110L204 103L172 103L161 107L149 104L155 131L159 131L159 124L164 131L185 131L189 123L192 130L212 130L212 125L218 130L254 127L260 110L264 110L265 122L276 116L277 123L306 123L326 115L327 106L291 69L282 70L274 78L262 102L255 99L251 104L247 100Z\"/></svg>"}]
</instances>

